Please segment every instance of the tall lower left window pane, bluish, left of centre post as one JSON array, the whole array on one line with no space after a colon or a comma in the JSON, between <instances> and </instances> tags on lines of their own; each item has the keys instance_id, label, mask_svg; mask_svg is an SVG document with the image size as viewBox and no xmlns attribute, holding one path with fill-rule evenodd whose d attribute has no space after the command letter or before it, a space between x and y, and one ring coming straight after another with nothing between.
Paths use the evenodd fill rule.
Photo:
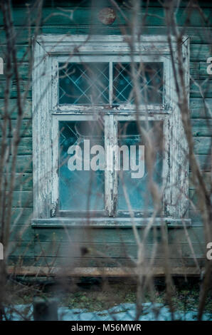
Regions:
<instances>
[{"instance_id":1,"label":"tall lower left window pane, bluish, left of centre post","mask_svg":"<svg viewBox=\"0 0 212 335\"><path fill-rule=\"evenodd\" d=\"M105 174L90 169L90 159L95 155L88 148L88 140L90 148L104 148L103 126L97 121L60 121L59 129L60 210L103 210Z\"/></svg>"}]
</instances>

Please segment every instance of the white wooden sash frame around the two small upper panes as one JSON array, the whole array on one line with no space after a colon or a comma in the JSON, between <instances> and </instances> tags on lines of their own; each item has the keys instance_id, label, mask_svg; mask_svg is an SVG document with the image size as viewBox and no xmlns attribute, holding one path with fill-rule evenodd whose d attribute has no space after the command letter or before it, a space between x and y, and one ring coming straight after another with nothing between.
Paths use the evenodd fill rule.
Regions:
<instances>
[{"instance_id":1,"label":"white wooden sash frame around the two small upper panes","mask_svg":"<svg viewBox=\"0 0 212 335\"><path fill-rule=\"evenodd\" d=\"M56 56L52 58L52 113L83 113L90 110L102 110L107 113L132 113L136 110L133 103L121 102L119 104L113 103L112 94L115 91L113 87L113 66L116 63L129 63L130 56ZM134 56L135 63L162 63L162 103L143 103L139 105L139 110L149 113L171 113L171 68L170 60L167 56ZM82 105L82 104L59 104L59 63L108 63L109 64L109 100L108 103L98 105ZM111 109L111 110L110 110Z\"/></svg>"}]
</instances>

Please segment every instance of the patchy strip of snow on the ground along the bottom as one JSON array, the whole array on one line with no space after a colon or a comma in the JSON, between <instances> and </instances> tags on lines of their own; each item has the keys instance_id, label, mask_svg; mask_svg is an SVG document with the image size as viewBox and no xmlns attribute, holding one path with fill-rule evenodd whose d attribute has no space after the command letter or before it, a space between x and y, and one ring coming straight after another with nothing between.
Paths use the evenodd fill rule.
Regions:
<instances>
[{"instance_id":1,"label":"patchy strip of snow on the ground along the bottom","mask_svg":"<svg viewBox=\"0 0 212 335\"><path fill-rule=\"evenodd\" d=\"M143 312L139 317L139 321L170 321L171 314L167 307L162 304L152 304L150 302L142 304ZM29 305L16 305L16 312L13 312L11 319L14 321L20 321L21 314L24 309L28 309L28 318L32 318L32 306ZM26 314L25 314L26 315ZM135 304L120 304L104 311L87 311L86 309L69 309L67 307L58 308L58 316L63 321L134 321L136 315ZM182 321L195 321L196 311L175 311L175 320ZM204 314L203 320L212 320L211 314Z\"/></svg>"}]
</instances>

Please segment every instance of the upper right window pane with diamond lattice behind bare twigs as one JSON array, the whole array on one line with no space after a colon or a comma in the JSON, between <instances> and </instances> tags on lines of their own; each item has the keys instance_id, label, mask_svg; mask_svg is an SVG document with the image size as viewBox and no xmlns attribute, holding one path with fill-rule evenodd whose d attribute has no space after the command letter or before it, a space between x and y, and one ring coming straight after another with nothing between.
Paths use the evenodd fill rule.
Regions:
<instances>
[{"instance_id":1,"label":"upper right window pane with diamond lattice behind bare twigs","mask_svg":"<svg viewBox=\"0 0 212 335\"><path fill-rule=\"evenodd\" d=\"M162 103L163 63L136 63L141 103ZM113 103L134 103L129 63L113 65Z\"/></svg>"}]
</instances>

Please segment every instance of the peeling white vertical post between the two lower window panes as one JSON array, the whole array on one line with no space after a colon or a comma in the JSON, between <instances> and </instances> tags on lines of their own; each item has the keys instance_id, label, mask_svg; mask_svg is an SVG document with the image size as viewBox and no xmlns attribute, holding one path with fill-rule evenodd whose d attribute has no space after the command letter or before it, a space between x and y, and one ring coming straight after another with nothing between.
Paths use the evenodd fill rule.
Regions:
<instances>
[{"instance_id":1,"label":"peeling white vertical post between the two lower window panes","mask_svg":"<svg viewBox=\"0 0 212 335\"><path fill-rule=\"evenodd\" d=\"M109 216L115 215L117 202L116 145L117 120L114 115L105 115L105 210Z\"/></svg>"}]
</instances>

